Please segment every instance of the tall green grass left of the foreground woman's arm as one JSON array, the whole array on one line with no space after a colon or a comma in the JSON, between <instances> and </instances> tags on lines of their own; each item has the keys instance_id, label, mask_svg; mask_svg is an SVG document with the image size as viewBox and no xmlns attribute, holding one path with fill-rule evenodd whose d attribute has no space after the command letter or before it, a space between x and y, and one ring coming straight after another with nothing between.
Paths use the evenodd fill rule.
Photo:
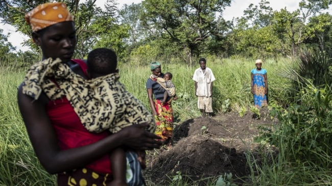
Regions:
<instances>
[{"instance_id":1,"label":"tall green grass left of the foreground woman's arm","mask_svg":"<svg viewBox=\"0 0 332 186\"><path fill-rule=\"evenodd\" d=\"M55 185L32 150L17 107L17 86L25 73L0 67L0 185Z\"/></svg>"}]
</instances>

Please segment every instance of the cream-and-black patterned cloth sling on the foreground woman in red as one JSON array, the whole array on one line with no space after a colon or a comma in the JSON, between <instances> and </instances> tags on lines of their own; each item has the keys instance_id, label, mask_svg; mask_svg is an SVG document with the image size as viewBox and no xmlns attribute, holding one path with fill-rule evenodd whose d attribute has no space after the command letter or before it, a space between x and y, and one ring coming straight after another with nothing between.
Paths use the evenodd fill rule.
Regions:
<instances>
[{"instance_id":1,"label":"cream-and-black patterned cloth sling on the foreground woman in red","mask_svg":"<svg viewBox=\"0 0 332 186\"><path fill-rule=\"evenodd\" d=\"M106 129L112 133L126 126L149 122L146 128L155 130L153 115L111 73L94 79L84 79L60 59L51 58L33 65L22 83L23 93L38 99L41 92L51 99L66 96L83 126L91 132Z\"/></svg>"}]
</instances>

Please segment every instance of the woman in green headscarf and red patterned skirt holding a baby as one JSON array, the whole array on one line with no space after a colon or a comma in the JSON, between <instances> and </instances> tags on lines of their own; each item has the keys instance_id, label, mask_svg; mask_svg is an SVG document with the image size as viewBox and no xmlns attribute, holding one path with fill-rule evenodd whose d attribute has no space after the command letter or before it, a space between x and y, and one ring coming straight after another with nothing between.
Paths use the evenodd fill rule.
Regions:
<instances>
[{"instance_id":1,"label":"woman in green headscarf and red patterned skirt holding a baby","mask_svg":"<svg viewBox=\"0 0 332 186\"><path fill-rule=\"evenodd\" d=\"M159 62L152 62L150 69L153 75L163 77L161 73L161 64ZM157 82L148 78L147 92L152 114L156 119L155 134L162 138L162 141L167 144L168 148L172 148L173 136L173 109L172 98L168 97L165 103L162 103L164 92L166 91ZM154 98L153 98L154 97Z\"/></svg>"}]
</instances>

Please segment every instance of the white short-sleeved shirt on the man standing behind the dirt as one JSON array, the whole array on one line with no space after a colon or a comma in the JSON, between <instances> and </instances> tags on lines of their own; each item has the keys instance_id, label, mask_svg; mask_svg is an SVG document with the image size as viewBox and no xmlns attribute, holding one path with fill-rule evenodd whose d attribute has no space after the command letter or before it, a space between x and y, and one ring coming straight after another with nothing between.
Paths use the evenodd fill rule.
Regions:
<instances>
[{"instance_id":1,"label":"white short-sleeved shirt on the man standing behind the dirt","mask_svg":"<svg viewBox=\"0 0 332 186\"><path fill-rule=\"evenodd\" d=\"M194 72L193 80L197 82L197 96L210 97L211 94L211 82L216 80L214 73L210 68L205 67L205 72L201 68L198 68Z\"/></svg>"}]
</instances>

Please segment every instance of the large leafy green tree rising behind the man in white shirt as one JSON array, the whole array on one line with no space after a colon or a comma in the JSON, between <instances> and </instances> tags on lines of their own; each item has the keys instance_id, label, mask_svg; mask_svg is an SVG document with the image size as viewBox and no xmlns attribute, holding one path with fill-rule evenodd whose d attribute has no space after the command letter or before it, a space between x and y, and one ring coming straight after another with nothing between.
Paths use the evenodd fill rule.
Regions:
<instances>
[{"instance_id":1,"label":"large leafy green tree rising behind the man in white shirt","mask_svg":"<svg viewBox=\"0 0 332 186\"><path fill-rule=\"evenodd\" d=\"M230 0L146 0L141 21L146 29L156 29L171 42L182 46L187 62L192 64L198 46L216 33L216 13L230 6Z\"/></svg>"}]
</instances>

